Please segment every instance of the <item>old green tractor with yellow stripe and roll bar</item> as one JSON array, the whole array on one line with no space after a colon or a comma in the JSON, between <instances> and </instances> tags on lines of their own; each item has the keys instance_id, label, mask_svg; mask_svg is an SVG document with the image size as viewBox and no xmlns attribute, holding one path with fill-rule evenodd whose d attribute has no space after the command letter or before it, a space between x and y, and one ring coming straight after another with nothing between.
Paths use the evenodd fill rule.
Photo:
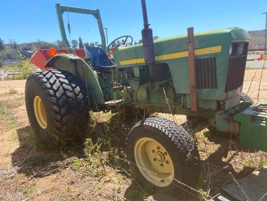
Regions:
<instances>
[{"instance_id":1,"label":"old green tractor with yellow stripe and roll bar","mask_svg":"<svg viewBox=\"0 0 267 201\"><path fill-rule=\"evenodd\" d=\"M49 50L50 56L47 50L35 53L31 61L43 71L30 75L25 89L36 137L48 147L75 140L86 129L89 110L186 115L182 125L161 117L143 119L127 138L128 161L136 178L168 194L177 192L173 183L194 186L198 181L200 156L193 132L208 128L221 135L238 135L244 146L267 151L267 102L252 105L242 92L248 33L229 28L194 34L188 29L187 35L153 41L146 4L141 2L143 43L132 45L133 38L123 36L128 42L115 51L111 43L109 54L99 10L56 4L66 48ZM94 15L102 48L70 48L64 12Z\"/></svg>"}]
</instances>

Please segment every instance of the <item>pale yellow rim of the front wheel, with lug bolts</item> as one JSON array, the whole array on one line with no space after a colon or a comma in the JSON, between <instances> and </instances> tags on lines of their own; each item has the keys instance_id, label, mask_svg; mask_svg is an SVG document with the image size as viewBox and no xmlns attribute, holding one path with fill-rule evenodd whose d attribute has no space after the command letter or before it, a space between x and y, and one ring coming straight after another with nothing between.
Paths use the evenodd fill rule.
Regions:
<instances>
[{"instance_id":1,"label":"pale yellow rim of the front wheel, with lug bolts","mask_svg":"<svg viewBox=\"0 0 267 201\"><path fill-rule=\"evenodd\" d=\"M172 160L157 141L146 137L139 139L134 146L134 158L139 171L150 183L164 187L172 182Z\"/></svg>"}]
</instances>

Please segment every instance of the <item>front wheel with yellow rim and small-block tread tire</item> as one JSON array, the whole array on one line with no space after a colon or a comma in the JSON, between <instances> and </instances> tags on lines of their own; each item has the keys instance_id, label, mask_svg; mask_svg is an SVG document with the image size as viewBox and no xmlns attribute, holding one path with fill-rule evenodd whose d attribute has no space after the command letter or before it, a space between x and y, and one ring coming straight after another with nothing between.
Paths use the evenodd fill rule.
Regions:
<instances>
[{"instance_id":1,"label":"front wheel with yellow rim and small-block tread tire","mask_svg":"<svg viewBox=\"0 0 267 201\"><path fill-rule=\"evenodd\" d=\"M198 181L197 146L184 128L167 119L138 122L127 139L127 156L140 183L152 183L158 192L175 195L179 182L194 186Z\"/></svg>"}]
</instances>

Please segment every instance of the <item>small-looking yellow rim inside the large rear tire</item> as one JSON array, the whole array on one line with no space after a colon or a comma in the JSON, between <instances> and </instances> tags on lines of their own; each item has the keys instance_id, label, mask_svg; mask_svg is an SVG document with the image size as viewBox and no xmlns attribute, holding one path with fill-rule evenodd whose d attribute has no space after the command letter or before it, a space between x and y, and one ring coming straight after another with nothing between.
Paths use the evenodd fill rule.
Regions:
<instances>
[{"instance_id":1,"label":"small-looking yellow rim inside the large rear tire","mask_svg":"<svg viewBox=\"0 0 267 201\"><path fill-rule=\"evenodd\" d=\"M46 111L43 101L39 96L35 96L34 98L33 109L39 126L45 129L47 127Z\"/></svg>"}]
</instances>

